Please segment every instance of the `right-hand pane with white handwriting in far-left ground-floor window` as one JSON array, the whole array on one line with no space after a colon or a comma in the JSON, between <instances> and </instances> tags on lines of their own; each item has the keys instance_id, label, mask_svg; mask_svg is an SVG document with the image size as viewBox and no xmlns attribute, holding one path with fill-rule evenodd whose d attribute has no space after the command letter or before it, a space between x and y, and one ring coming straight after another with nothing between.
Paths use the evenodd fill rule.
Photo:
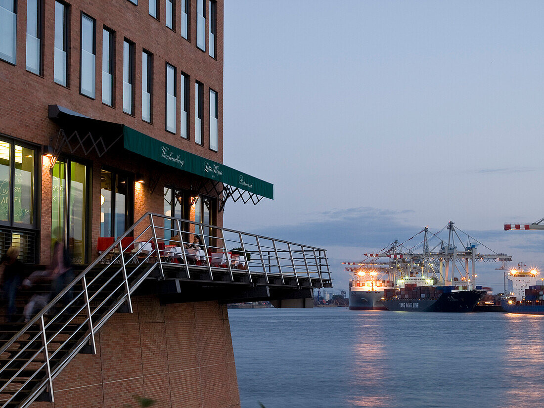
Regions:
<instances>
[{"instance_id":1,"label":"right-hand pane with white handwriting in far-left ground-floor window","mask_svg":"<svg viewBox=\"0 0 544 408\"><path fill-rule=\"evenodd\" d=\"M34 150L15 146L13 220L32 224L34 211Z\"/></svg>"}]
</instances>

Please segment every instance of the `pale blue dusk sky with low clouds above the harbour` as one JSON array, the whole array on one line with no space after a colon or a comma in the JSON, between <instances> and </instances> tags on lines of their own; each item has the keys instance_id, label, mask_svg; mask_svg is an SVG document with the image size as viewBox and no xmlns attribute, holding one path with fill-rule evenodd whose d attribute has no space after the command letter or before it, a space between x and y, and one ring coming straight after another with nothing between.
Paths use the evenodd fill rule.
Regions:
<instances>
[{"instance_id":1,"label":"pale blue dusk sky with low clouds above the harbour","mask_svg":"<svg viewBox=\"0 0 544 408\"><path fill-rule=\"evenodd\" d=\"M274 184L224 225L342 261L449 220L544 269L541 1L225 2L224 162ZM480 249L484 252L484 249ZM502 290L499 264L479 284Z\"/></svg>"}]
</instances>

